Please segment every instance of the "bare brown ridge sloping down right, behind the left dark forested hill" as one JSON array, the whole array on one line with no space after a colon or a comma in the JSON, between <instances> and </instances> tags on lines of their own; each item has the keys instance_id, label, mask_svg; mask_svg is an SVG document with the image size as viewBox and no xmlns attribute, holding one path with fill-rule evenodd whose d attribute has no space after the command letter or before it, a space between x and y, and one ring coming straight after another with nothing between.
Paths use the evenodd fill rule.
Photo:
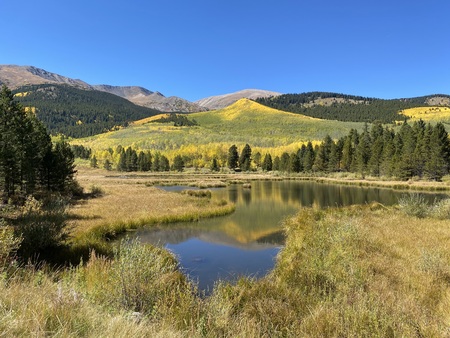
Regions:
<instances>
[{"instance_id":1,"label":"bare brown ridge sloping down right, behind the left dark forested hill","mask_svg":"<svg viewBox=\"0 0 450 338\"><path fill-rule=\"evenodd\" d=\"M177 96L165 97L160 92L152 92L148 89L136 86L110 86L95 85L94 89L123 97L139 106L157 109L162 112L184 112L193 113L206 111L208 108L201 107L196 103L182 99Z\"/></svg>"}]
</instances>

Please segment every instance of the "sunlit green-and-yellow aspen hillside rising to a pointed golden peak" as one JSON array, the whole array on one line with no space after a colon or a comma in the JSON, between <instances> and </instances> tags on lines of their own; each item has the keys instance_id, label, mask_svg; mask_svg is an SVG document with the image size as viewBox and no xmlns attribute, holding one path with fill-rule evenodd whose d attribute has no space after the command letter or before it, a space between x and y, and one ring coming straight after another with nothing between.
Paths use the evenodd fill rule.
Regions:
<instances>
[{"instance_id":1,"label":"sunlit green-and-yellow aspen hillside rising to a pointed golden peak","mask_svg":"<svg viewBox=\"0 0 450 338\"><path fill-rule=\"evenodd\" d=\"M136 150L161 151L169 157L175 153L225 153L232 144L241 147L248 143L252 149L296 151L303 142L321 141L346 135L350 128L361 130L362 123L338 122L291 114L242 99L216 111L186 115L198 126L175 127L168 123L140 120L121 130L74 140L97 152L114 149L118 145ZM158 117L154 117L158 118Z\"/></svg>"}]
</instances>

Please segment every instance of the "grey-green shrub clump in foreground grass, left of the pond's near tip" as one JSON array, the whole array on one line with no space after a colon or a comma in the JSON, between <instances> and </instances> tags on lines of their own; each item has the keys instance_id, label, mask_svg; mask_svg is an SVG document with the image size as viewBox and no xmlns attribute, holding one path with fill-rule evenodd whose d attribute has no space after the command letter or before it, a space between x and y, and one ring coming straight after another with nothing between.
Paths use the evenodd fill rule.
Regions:
<instances>
[{"instance_id":1,"label":"grey-green shrub clump in foreground grass, left of the pond's near tip","mask_svg":"<svg viewBox=\"0 0 450 338\"><path fill-rule=\"evenodd\" d=\"M138 240L122 240L112 260L92 255L81 269L81 284L99 304L146 316L175 311L184 313L176 318L186 318L195 305L192 286L175 257Z\"/></svg>"}]
</instances>

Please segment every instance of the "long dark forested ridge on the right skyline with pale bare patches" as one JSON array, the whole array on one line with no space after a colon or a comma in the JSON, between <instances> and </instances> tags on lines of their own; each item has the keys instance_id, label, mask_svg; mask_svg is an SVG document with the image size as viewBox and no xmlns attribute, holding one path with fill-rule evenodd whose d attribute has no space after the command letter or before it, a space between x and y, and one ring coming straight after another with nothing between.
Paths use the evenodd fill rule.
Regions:
<instances>
[{"instance_id":1,"label":"long dark forested ridge on the right skyline with pale bare patches","mask_svg":"<svg viewBox=\"0 0 450 338\"><path fill-rule=\"evenodd\" d=\"M405 119L405 115L401 114L404 109L424 105L446 106L450 103L449 99L449 95L442 94L383 100L338 93L308 92L258 98L256 102L286 112L327 120L392 123Z\"/></svg>"}]
</instances>

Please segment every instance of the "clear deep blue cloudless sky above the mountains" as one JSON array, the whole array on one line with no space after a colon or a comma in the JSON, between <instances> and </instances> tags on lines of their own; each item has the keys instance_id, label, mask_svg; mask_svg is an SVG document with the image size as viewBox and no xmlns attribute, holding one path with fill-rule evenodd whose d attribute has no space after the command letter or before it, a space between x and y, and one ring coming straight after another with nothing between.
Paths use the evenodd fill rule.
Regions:
<instances>
[{"instance_id":1,"label":"clear deep blue cloudless sky above the mountains","mask_svg":"<svg viewBox=\"0 0 450 338\"><path fill-rule=\"evenodd\" d=\"M448 0L0 0L0 64L195 101L450 94Z\"/></svg>"}]
</instances>

